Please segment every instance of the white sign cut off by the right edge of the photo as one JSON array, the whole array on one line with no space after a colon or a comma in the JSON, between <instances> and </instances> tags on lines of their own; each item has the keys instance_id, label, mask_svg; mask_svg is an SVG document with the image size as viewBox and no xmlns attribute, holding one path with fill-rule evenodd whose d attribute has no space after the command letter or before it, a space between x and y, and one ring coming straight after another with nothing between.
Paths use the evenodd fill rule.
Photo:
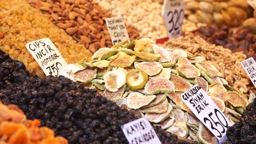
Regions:
<instances>
[{"instance_id":1,"label":"white sign cut off by the right edge of the photo","mask_svg":"<svg viewBox=\"0 0 256 144\"><path fill-rule=\"evenodd\" d=\"M256 87L256 63L252 57L242 61L242 67L245 69L247 75L250 77L254 87Z\"/></svg>"}]
</instances>

